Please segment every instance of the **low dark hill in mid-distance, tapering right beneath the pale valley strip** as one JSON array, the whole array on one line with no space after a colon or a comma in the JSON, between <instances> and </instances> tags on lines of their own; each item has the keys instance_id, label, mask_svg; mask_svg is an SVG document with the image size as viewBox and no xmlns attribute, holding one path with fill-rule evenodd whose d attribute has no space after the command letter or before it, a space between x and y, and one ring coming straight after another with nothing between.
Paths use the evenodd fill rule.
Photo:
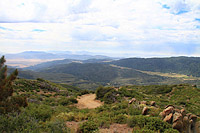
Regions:
<instances>
[{"instance_id":1,"label":"low dark hill in mid-distance, tapering right beneath the pale valley strip","mask_svg":"<svg viewBox=\"0 0 200 133\"><path fill-rule=\"evenodd\" d=\"M98 63L71 63L57 65L41 70L42 73L70 74L78 79L101 85L121 86L121 85L147 85L181 83L179 79L169 78L159 75L150 75L134 69L120 68L108 64ZM58 77L58 79L60 79ZM96 86L97 87L97 86Z\"/></svg>"}]
</instances>

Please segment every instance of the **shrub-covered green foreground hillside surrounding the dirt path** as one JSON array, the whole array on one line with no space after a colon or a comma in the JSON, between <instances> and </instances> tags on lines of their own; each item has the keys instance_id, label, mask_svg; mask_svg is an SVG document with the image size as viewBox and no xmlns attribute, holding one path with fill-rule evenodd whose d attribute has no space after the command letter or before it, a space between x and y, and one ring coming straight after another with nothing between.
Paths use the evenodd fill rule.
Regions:
<instances>
[{"instance_id":1,"label":"shrub-covered green foreground hillside surrounding the dirt path","mask_svg":"<svg viewBox=\"0 0 200 133\"><path fill-rule=\"evenodd\" d=\"M189 84L98 87L97 99L104 105L95 109L76 107L77 96L91 93L73 86L55 84L43 79L17 79L15 96L26 96L28 107L21 112L0 116L0 131L6 132L94 132L129 129L135 132L173 132L172 125L162 121L159 113L171 104L176 109L200 117L200 89ZM136 101L129 104L130 99ZM144 101L145 104L140 102ZM155 106L151 106L155 101ZM141 115L144 107L148 116ZM199 119L197 120L199 121Z\"/></svg>"}]
</instances>

